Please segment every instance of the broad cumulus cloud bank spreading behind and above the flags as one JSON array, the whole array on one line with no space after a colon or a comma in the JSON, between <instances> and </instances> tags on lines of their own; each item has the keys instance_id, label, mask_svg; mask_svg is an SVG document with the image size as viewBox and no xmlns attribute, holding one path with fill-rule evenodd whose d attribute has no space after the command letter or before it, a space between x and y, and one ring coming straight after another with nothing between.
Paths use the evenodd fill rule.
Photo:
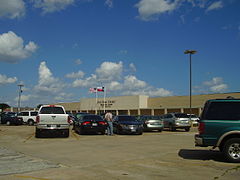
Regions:
<instances>
[{"instance_id":1,"label":"broad cumulus cloud bank spreading behind and above the flags","mask_svg":"<svg viewBox=\"0 0 240 180\"><path fill-rule=\"evenodd\" d=\"M129 67L136 71L134 64L129 64ZM129 67L126 67L128 69ZM147 82L138 79L134 75L124 75L124 66L120 61L103 62L100 67L96 68L95 74L82 79L78 78L73 81L73 87L91 88L97 86L105 86L108 94L111 95L148 95L148 96L170 96L172 92L163 89L155 88Z\"/></svg>"}]
</instances>

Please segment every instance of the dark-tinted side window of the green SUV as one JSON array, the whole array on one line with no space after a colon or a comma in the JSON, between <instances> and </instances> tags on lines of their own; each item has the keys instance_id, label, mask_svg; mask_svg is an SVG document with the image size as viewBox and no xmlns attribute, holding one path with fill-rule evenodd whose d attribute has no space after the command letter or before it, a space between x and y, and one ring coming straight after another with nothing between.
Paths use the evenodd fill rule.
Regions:
<instances>
[{"instance_id":1,"label":"dark-tinted side window of the green SUV","mask_svg":"<svg viewBox=\"0 0 240 180\"><path fill-rule=\"evenodd\" d=\"M240 102L211 102L202 119L240 120Z\"/></svg>"}]
</instances>

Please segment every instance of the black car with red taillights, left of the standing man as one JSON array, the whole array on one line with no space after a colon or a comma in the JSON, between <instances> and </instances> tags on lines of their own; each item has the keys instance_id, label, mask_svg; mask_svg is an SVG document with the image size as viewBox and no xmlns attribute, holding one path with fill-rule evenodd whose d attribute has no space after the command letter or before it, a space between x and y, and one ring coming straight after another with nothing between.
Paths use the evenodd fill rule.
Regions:
<instances>
[{"instance_id":1,"label":"black car with red taillights, left of the standing man","mask_svg":"<svg viewBox=\"0 0 240 180\"><path fill-rule=\"evenodd\" d=\"M105 134L107 129L107 122L99 115L95 114L82 114L79 118L75 119L73 129L79 134L84 133L101 133Z\"/></svg>"}]
</instances>

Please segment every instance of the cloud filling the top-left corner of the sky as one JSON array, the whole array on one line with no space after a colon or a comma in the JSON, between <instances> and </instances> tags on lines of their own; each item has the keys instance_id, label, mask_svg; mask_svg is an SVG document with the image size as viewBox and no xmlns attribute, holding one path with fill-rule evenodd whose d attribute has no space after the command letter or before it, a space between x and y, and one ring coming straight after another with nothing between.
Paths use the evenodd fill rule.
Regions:
<instances>
[{"instance_id":1,"label":"cloud filling the top-left corner of the sky","mask_svg":"<svg viewBox=\"0 0 240 180\"><path fill-rule=\"evenodd\" d=\"M15 19L25 15L25 3L23 0L1 0L0 17Z\"/></svg>"}]
</instances>

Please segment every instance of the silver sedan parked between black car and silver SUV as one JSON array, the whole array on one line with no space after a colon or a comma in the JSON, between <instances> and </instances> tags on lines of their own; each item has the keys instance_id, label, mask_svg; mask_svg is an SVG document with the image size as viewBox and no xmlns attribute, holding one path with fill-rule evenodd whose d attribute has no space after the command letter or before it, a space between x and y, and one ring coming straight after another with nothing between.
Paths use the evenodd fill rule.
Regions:
<instances>
[{"instance_id":1,"label":"silver sedan parked between black car and silver SUV","mask_svg":"<svg viewBox=\"0 0 240 180\"><path fill-rule=\"evenodd\" d=\"M139 120L143 122L143 131L163 130L163 120L160 116L140 116Z\"/></svg>"}]
</instances>

